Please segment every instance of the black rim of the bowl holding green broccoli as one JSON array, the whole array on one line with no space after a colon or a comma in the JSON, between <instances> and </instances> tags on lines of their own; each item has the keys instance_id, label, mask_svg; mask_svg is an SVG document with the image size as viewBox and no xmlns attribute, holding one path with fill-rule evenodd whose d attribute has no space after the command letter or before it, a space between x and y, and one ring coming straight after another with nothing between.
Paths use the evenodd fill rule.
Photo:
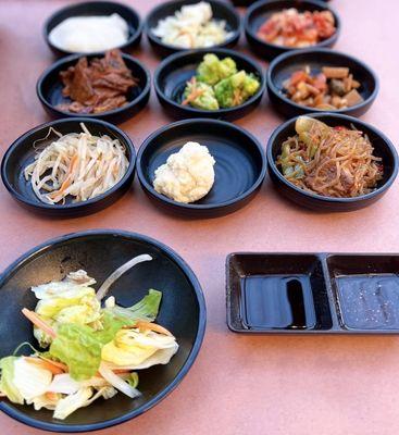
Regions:
<instances>
[{"instance_id":1,"label":"black rim of the bowl holding green broccoli","mask_svg":"<svg viewBox=\"0 0 399 435\"><path fill-rule=\"evenodd\" d=\"M172 100L171 98L166 97L165 92L161 89L160 86L160 75L162 74L163 70L165 67L167 67L171 63L175 62L177 59L182 59L182 58L188 58L195 54L219 54L219 57L221 55L225 55L225 57L234 57L234 58L238 58L241 61L248 62L253 70L255 70L258 78L260 80L260 87L257 90L257 92L250 97L247 101L245 101L242 104L236 105L234 108L225 108L225 109L217 109L217 110L203 110L203 109L196 109L196 108L191 108L189 105L183 105L174 100ZM214 116L219 116L219 115L228 115L235 112L238 112L242 109L248 108L249 105L251 105L252 103L254 103L258 99L261 99L264 90L266 88L266 78L265 78L265 74L262 70L262 66L252 58L250 58L247 54L244 54L241 52L238 52L236 50L232 50L232 49L227 49L227 48L201 48L201 49L197 49L197 50L185 50L185 51L178 51L177 53L171 54L169 55L166 59L164 59L157 67L155 72L153 73L153 87L155 89L155 94L158 96L158 98L165 100L169 104L173 105L174 108L177 108L180 111L185 111L187 112L187 115L204 115L204 114L209 114L212 113L214 114Z\"/></svg>"}]
</instances>

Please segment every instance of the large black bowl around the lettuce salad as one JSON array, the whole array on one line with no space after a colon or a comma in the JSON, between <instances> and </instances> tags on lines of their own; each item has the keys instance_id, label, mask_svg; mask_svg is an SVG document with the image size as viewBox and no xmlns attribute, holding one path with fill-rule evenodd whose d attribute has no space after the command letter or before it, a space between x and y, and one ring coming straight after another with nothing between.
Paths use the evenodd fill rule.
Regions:
<instances>
[{"instance_id":1,"label":"large black bowl around the lettuce salad","mask_svg":"<svg viewBox=\"0 0 399 435\"><path fill-rule=\"evenodd\" d=\"M140 371L137 399L122 393L97 400L64 421L52 419L52 411L35 411L8 400L0 410L25 424L54 432L93 431L130 420L149 410L170 394L187 374L201 347L205 330L205 302L191 269L171 248L139 234L115 231L89 231L70 234L40 245L11 264L1 275L0 356L11 355L23 341L36 345L33 328L21 309L34 309L37 300L30 286L59 281L66 273L85 269L100 285L115 269L130 258L149 253L152 261L134 268L111 288L116 301L132 306L149 288L162 291L157 321L177 338L179 349L167 365ZM37 345L36 345L37 346Z\"/></svg>"}]
</instances>

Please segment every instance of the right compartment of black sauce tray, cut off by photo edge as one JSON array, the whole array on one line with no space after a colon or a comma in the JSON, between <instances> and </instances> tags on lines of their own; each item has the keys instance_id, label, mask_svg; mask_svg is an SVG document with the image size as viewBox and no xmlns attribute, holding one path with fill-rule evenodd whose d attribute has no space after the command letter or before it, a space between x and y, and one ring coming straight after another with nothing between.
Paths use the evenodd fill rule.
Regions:
<instances>
[{"instance_id":1,"label":"right compartment of black sauce tray, cut off by photo edge","mask_svg":"<svg viewBox=\"0 0 399 435\"><path fill-rule=\"evenodd\" d=\"M344 327L399 330L398 256L331 256L327 264Z\"/></svg>"}]
</instances>

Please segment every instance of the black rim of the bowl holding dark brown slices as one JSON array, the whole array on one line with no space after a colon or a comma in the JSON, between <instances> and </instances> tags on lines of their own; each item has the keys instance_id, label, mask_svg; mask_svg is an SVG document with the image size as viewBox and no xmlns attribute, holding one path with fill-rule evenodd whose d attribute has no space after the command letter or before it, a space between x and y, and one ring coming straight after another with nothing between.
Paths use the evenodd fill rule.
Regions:
<instances>
[{"instance_id":1,"label":"black rim of the bowl holding dark brown slices","mask_svg":"<svg viewBox=\"0 0 399 435\"><path fill-rule=\"evenodd\" d=\"M85 113L85 114L72 113L72 112L67 112L65 110L57 109L57 107L51 104L43 96L43 91L42 91L43 82L48 78L48 76L50 74L53 74L53 72L57 69L59 69L60 66L62 66L68 62L78 61L80 58L96 58L96 57L103 58L104 52L96 52L96 53L89 53L89 54L71 54L65 58L61 58L58 61L55 61L54 63L52 63L49 67L47 67L41 73L41 75L37 79L36 95L37 95L39 101L47 109L49 109L52 112L58 113L60 116L64 116L64 117L67 116L67 117L72 117L72 119L86 117L86 119L98 120L98 119L102 119L102 117L119 115L119 114L129 111L135 105L140 104L142 102L142 100L145 100L149 96L150 90L151 90L151 75L150 75L149 70L139 60L137 60L137 59L133 58L132 55L126 54L124 52L121 52L121 54L122 54L122 59L124 61L133 62L139 70L141 70L141 72L146 76L146 83L145 83L145 86L144 86L141 92L134 100L129 101L127 104L123 105L122 108L108 110L108 111L101 112L101 113ZM128 67L128 66L126 65L126 67Z\"/></svg>"}]
</instances>

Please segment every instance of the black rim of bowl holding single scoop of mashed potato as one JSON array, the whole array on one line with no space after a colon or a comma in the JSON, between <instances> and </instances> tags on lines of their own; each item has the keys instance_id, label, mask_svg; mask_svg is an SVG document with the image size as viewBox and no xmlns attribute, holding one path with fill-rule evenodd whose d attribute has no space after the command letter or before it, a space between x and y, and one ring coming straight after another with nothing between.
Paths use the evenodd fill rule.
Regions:
<instances>
[{"instance_id":1,"label":"black rim of bowl holding single scoop of mashed potato","mask_svg":"<svg viewBox=\"0 0 399 435\"><path fill-rule=\"evenodd\" d=\"M163 134L164 132L172 129L172 128L179 128L180 126L187 125L187 124L213 124L213 125L219 125L225 128L234 129L236 132L239 132L241 135L244 134L247 136L249 140L251 140L252 145L255 147L258 152L260 153L261 157L261 170L260 174L257 178L257 181L252 184L252 186L246 190L244 194L239 195L236 198L229 199L228 201L220 202L220 203L212 203L212 204L197 204L195 202L191 203L185 203L185 202L178 202L175 201L171 198L167 198L166 196L159 194L150 183L147 182L147 177L142 171L142 165L141 165L141 159L142 154L145 153L147 147L158 136ZM266 175L266 170L267 170L267 162L266 162L266 157L265 152L259 142L259 140L248 130L245 128L235 125L233 123L226 122L226 121L221 121L221 120L212 120L212 119L189 119L189 120L182 120L174 122L172 124L164 125L161 128L158 128L155 132L151 133L141 144L138 152L137 152L137 176L140 182L141 187L144 190L148 191L151 196L155 197L158 200L162 202L166 202L169 206L172 207L177 207L183 210L191 210L191 211L210 211L210 210L219 210L224 207L232 206L234 203L240 202L247 197L251 196L263 183L263 179Z\"/></svg>"}]
</instances>

